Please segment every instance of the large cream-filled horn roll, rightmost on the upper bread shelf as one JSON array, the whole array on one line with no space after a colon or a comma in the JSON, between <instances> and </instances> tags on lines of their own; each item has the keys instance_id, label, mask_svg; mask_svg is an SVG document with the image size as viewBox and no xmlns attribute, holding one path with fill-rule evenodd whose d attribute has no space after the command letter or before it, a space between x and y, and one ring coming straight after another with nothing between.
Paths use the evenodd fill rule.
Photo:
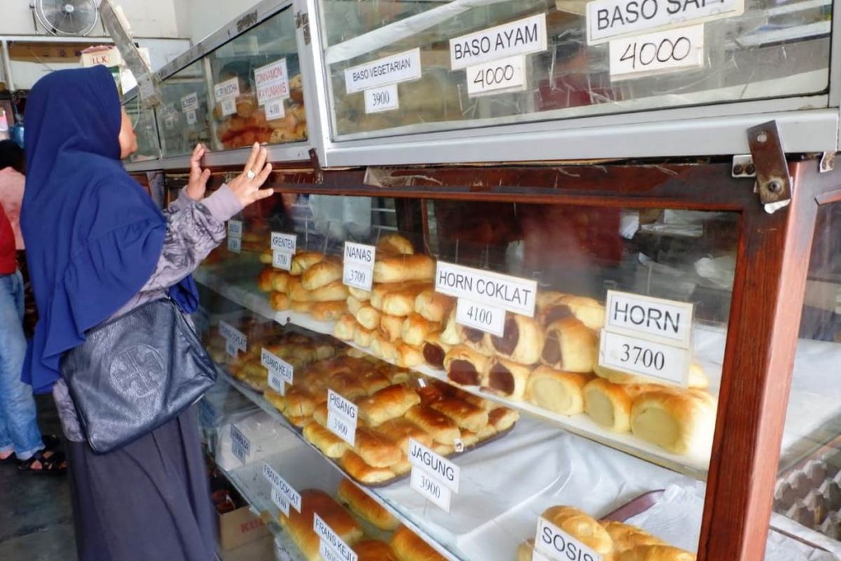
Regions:
<instances>
[{"instance_id":1,"label":"large cream-filled horn roll, rightmost on the upper bread shelf","mask_svg":"<svg viewBox=\"0 0 841 561\"><path fill-rule=\"evenodd\" d=\"M653 389L631 409L634 435L675 454L709 452L715 425L715 401L703 390Z\"/></svg>"}]
</instances>

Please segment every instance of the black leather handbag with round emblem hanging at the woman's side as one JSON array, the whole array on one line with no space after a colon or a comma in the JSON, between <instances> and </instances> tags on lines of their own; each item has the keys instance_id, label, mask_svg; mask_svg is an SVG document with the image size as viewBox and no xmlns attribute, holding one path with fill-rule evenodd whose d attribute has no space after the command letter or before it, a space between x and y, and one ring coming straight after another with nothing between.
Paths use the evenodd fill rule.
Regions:
<instances>
[{"instance_id":1,"label":"black leather handbag with round emblem hanging at the woman's side","mask_svg":"<svg viewBox=\"0 0 841 561\"><path fill-rule=\"evenodd\" d=\"M216 368L171 299L142 304L87 331L61 376L96 453L143 437L180 415L216 381Z\"/></svg>"}]
</instances>

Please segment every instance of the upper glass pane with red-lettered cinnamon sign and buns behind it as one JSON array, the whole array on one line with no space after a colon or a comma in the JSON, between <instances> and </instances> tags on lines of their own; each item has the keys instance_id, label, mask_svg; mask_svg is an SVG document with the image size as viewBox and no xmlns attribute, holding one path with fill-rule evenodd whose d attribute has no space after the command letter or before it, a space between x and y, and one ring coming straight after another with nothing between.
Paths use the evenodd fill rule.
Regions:
<instances>
[{"instance_id":1,"label":"upper glass pane with red-lettered cinnamon sign and buns behind it","mask_svg":"<svg viewBox=\"0 0 841 561\"><path fill-rule=\"evenodd\" d=\"M304 90L291 9L267 19L209 56L215 86L215 144L241 148L307 139Z\"/></svg>"}]
</instances>

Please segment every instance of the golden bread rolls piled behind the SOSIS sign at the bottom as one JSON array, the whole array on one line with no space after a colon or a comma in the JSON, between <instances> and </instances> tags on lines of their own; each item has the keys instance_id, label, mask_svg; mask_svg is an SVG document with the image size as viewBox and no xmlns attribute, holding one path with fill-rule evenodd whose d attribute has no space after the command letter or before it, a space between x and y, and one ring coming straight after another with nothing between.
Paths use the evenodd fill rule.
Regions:
<instances>
[{"instance_id":1,"label":"golden bread rolls piled behind the SOSIS sign at the bottom","mask_svg":"<svg viewBox=\"0 0 841 561\"><path fill-rule=\"evenodd\" d=\"M644 530L616 521L596 521L574 506L552 506L542 518L598 553L604 561L695 561L694 553L674 548ZM551 547L551 546L549 546ZM517 561L531 561L534 539L522 542Z\"/></svg>"}]
</instances>

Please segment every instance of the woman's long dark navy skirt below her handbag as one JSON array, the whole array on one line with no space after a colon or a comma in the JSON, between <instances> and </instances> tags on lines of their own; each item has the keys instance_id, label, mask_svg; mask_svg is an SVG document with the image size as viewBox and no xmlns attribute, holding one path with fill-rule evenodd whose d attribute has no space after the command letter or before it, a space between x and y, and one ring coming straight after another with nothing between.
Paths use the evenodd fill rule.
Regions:
<instances>
[{"instance_id":1,"label":"woman's long dark navy skirt below her handbag","mask_svg":"<svg viewBox=\"0 0 841 561\"><path fill-rule=\"evenodd\" d=\"M214 515L193 408L114 452L68 442L79 561L212 561Z\"/></svg>"}]
</instances>

